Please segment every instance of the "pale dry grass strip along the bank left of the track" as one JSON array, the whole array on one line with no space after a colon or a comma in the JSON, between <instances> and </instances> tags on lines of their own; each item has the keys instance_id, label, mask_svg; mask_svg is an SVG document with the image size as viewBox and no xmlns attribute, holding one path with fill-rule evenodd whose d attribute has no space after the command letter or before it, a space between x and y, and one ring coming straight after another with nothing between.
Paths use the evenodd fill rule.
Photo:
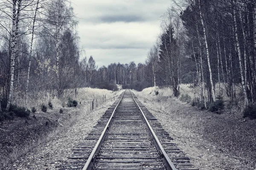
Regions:
<instances>
[{"instance_id":1,"label":"pale dry grass strip along the bank left of the track","mask_svg":"<svg viewBox=\"0 0 256 170\"><path fill-rule=\"evenodd\" d=\"M72 91L70 91L70 92L72 92ZM58 120L59 125L57 127L52 129L51 131L49 131L49 133L41 135L36 140L35 139L30 140L30 141L28 140L28 141L26 141L26 145L23 145L23 146L16 145L15 147L13 147L12 152L10 152L8 156L5 156L5 157L1 156L0 169L1 169L1 167L5 167L7 164L14 162L21 156L23 156L26 153L28 153L29 151L33 150L38 145L49 142L58 133L63 132L65 129L71 127L76 122L81 120L84 116L86 116L88 113L91 112L91 108L92 108L91 101L93 99L97 99L98 106L100 106L103 102L105 102L105 96L106 96L106 100L108 100L115 96L117 97L119 95L119 93L120 92L112 92L112 91L108 91L105 89L93 89L93 88L79 89L79 94L77 95L76 99L79 102L81 102L81 105L79 104L76 108L67 109L66 114L70 115L68 117L68 119ZM104 95L104 97L103 97L103 95ZM72 94L72 93L66 93L65 99L67 99L68 97L75 98L74 94ZM40 99L37 99L35 101L31 100L29 102L29 106L31 106L31 107L35 106L38 109L38 108L40 108L40 103L47 103L49 101L49 99L51 99L51 102L54 107L53 112L58 113L58 109L62 108L63 99L62 100L56 99L56 98L52 99L52 97L49 96L48 94L45 96L41 96ZM21 99L19 101L21 101ZM38 102L39 102L39 104L38 104ZM19 103L19 105L23 106L21 102Z\"/></svg>"}]
</instances>

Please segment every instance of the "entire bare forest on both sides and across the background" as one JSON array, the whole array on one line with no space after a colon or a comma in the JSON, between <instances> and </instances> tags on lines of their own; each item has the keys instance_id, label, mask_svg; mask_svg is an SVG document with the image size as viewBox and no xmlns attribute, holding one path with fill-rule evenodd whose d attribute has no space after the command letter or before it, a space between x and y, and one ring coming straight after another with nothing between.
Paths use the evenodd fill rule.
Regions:
<instances>
[{"instance_id":1,"label":"entire bare forest on both sides and across the background","mask_svg":"<svg viewBox=\"0 0 256 170\"><path fill-rule=\"evenodd\" d=\"M241 105L256 116L256 2L172 2L145 63L98 68L79 48L79 19L68 0L2 0L0 111L12 105L30 109L28 102L38 95L62 98L82 87L170 87L178 97L180 85L190 84L200 108L223 109L227 96L229 107Z\"/></svg>"}]
</instances>

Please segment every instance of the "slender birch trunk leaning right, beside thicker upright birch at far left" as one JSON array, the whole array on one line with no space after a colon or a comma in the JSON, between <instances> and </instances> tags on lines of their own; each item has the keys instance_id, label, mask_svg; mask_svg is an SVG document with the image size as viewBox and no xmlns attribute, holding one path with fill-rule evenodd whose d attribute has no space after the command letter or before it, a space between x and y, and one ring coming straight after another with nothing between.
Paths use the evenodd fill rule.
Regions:
<instances>
[{"instance_id":1,"label":"slender birch trunk leaning right, beside thicker upright birch at far left","mask_svg":"<svg viewBox=\"0 0 256 170\"><path fill-rule=\"evenodd\" d=\"M27 111L27 108L28 108L29 74L30 74L30 66L31 66L33 40L34 40L35 18L36 18L36 14L37 14L37 10L38 10L38 4L39 4L39 0L37 1L37 4L36 4L35 15L34 15L33 24L32 24L32 36L31 36L31 44L30 44L30 51L29 51L29 67L28 67L28 71L27 71L26 94L25 94L25 108L26 108L26 111Z\"/></svg>"}]
</instances>

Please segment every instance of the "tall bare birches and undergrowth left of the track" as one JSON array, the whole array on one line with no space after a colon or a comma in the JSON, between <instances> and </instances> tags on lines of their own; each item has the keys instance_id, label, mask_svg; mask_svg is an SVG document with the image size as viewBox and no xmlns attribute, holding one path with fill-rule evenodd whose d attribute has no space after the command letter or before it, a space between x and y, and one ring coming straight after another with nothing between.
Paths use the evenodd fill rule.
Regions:
<instances>
[{"instance_id":1,"label":"tall bare birches and undergrowth left of the track","mask_svg":"<svg viewBox=\"0 0 256 170\"><path fill-rule=\"evenodd\" d=\"M76 86L78 21L67 0L0 2L0 98L7 111L22 96ZM77 77L75 79L78 79Z\"/></svg>"}]
</instances>

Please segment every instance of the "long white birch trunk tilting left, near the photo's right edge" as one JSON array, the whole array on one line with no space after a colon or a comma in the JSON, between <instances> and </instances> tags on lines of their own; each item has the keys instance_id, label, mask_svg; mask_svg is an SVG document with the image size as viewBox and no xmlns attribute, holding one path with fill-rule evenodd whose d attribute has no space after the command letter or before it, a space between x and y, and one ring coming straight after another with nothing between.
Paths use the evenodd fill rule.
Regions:
<instances>
[{"instance_id":1,"label":"long white birch trunk tilting left, near the photo's right edge","mask_svg":"<svg viewBox=\"0 0 256 170\"><path fill-rule=\"evenodd\" d=\"M233 0L233 3L235 4L234 0ZM244 105L247 106L249 104L249 100L248 100L245 81L244 81L244 68L243 68L243 64L242 64L241 50L240 50L240 45L239 45L238 33L237 33L237 22L236 22L235 6L233 8L233 20L234 20L235 36L236 36L236 49L237 49L238 57L239 57L239 66L240 66L241 81L242 81L241 83L242 83L242 88L243 88L243 91L244 91Z\"/></svg>"}]
</instances>

